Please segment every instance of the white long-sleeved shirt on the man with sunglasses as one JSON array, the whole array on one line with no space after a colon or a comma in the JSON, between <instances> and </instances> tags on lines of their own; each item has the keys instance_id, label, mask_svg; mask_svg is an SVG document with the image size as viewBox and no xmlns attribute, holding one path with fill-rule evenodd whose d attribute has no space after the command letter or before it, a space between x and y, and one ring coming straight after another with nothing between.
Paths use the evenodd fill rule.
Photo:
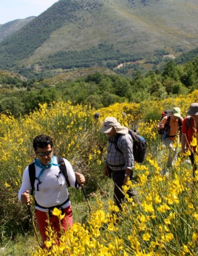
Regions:
<instances>
[{"instance_id":1,"label":"white long-sleeved shirt on the man with sunglasses","mask_svg":"<svg viewBox=\"0 0 198 256\"><path fill-rule=\"evenodd\" d=\"M79 185L76 182L76 177L71 164L66 159L64 159L64 162L71 187L78 189ZM56 158L54 163L57 164ZM35 170L36 177L38 177L42 168L35 165ZM44 170L43 174L39 178L41 182L41 184L39 185L39 191L37 191L37 184L39 183L39 181L35 179L35 199L39 205L43 207L51 207L55 205L60 205L68 199L69 193L66 187L66 180L64 175L59 172L59 166L53 165L49 169ZM18 193L19 200L21 200L21 194L24 193L26 190L28 190L29 192L31 191L28 166L23 173L23 181ZM70 200L63 204L62 208L66 208L69 205ZM36 206L36 209L45 212L48 211L48 209L43 209L39 206Z\"/></svg>"}]
</instances>

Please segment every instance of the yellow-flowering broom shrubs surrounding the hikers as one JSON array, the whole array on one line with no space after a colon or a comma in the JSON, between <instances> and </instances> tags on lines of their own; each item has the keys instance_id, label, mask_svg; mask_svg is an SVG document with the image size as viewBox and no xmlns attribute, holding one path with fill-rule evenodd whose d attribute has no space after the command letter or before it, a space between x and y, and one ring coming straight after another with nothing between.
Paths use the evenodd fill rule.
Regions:
<instances>
[{"instance_id":1,"label":"yellow-flowering broom shrubs surrounding the hikers","mask_svg":"<svg viewBox=\"0 0 198 256\"><path fill-rule=\"evenodd\" d=\"M116 207L112 202L107 206L105 197L99 197L99 205L93 207L91 217L83 225L78 223L81 222L78 219L68 232L67 243L63 236L62 246L53 247L55 254L61 255L70 250L73 255L89 255L92 249L94 255L194 255L198 241L198 203L197 190L192 185L191 166L178 158L169 177L160 175L167 154L155 129L157 117L164 108L179 106L182 116L185 116L191 102L198 102L198 91L186 97L144 101L141 104L116 103L99 109L99 120L93 118L95 111L89 106L73 106L70 102L57 102L50 107L44 104L39 111L18 119L1 115L1 247L10 238L15 239L32 227L26 207L17 199L23 170L34 159L32 139L41 133L52 136L55 153L67 158L74 170L86 176L87 193L100 193L107 190L107 180L103 177L107 139L100 132L101 122L106 116L115 116L122 125L138 128L148 142L145 163L135 166L138 183L129 184L138 191L141 205L129 198L117 222L111 218ZM76 203L84 200L86 204L82 194L79 198L79 191L71 190L70 194L76 198ZM79 232L75 233L76 230ZM50 247L53 246L52 238L50 235Z\"/></svg>"}]
</instances>

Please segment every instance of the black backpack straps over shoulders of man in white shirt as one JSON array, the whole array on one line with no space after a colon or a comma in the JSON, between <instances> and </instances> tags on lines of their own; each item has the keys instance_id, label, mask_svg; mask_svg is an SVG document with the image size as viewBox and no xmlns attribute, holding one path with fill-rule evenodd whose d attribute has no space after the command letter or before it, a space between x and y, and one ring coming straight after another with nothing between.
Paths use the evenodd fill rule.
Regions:
<instances>
[{"instance_id":1,"label":"black backpack straps over shoulders of man in white shirt","mask_svg":"<svg viewBox=\"0 0 198 256\"><path fill-rule=\"evenodd\" d=\"M70 183L69 183L69 180L68 180L68 175L67 175L67 169L66 169L66 166L65 166L65 162L64 162L62 157L57 157L56 156L56 159L57 159L57 162L59 164L60 173L62 173L64 175L66 183L67 183L67 186L70 187ZM31 193L30 194L33 195L34 183L35 183L35 180L36 180L35 163L32 162L29 165L28 169L29 169L29 177L30 177L30 183L31 183Z\"/></svg>"}]
</instances>

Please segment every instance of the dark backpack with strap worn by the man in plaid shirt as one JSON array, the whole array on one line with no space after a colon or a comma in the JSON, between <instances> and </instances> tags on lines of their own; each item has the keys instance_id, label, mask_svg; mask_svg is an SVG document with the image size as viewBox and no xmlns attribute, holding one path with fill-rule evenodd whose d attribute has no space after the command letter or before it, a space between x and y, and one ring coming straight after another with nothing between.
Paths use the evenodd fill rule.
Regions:
<instances>
[{"instance_id":1,"label":"dark backpack with strap worn by the man in plaid shirt","mask_svg":"<svg viewBox=\"0 0 198 256\"><path fill-rule=\"evenodd\" d=\"M131 135L131 137L133 139L134 160L138 163L142 163L145 159L146 152L147 152L147 142L142 136L138 135L133 130L129 130L129 134ZM115 136L115 140L114 140L115 149L117 151L119 151L120 153L122 153L122 151L118 148L118 143L117 142L118 142L118 138L121 135L122 134L117 133L116 136Z\"/></svg>"}]
</instances>

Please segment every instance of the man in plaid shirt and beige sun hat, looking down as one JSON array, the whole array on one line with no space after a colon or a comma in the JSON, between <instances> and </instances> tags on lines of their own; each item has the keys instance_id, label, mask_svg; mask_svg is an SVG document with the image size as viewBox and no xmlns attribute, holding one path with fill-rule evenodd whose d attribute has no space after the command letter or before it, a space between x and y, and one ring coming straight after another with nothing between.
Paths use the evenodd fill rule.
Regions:
<instances>
[{"instance_id":1,"label":"man in plaid shirt and beige sun hat, looking down","mask_svg":"<svg viewBox=\"0 0 198 256\"><path fill-rule=\"evenodd\" d=\"M108 153L104 168L104 175L112 178L114 182L113 199L115 204L121 209L121 203L124 200L122 186L127 183L133 176L134 155L133 155L133 139L128 133L129 129L120 125L114 117L107 117L104 120L101 132L106 133L109 137ZM118 147L115 147L115 139L121 134L117 140ZM136 192L129 192L130 196L135 196Z\"/></svg>"}]
</instances>

